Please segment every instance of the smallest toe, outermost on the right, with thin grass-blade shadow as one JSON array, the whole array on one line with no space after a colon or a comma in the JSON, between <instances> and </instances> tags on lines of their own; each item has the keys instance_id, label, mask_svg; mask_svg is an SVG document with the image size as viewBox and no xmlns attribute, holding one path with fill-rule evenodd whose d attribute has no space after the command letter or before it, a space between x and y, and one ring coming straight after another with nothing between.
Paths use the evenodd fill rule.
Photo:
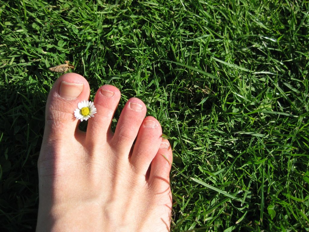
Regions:
<instances>
[{"instance_id":1,"label":"smallest toe, outermost on the right, with thin grass-blade shadow","mask_svg":"<svg viewBox=\"0 0 309 232\"><path fill-rule=\"evenodd\" d=\"M173 161L171 145L163 139L160 148L151 162L148 182L159 192L170 189L170 170Z\"/></svg>"}]
</instances>

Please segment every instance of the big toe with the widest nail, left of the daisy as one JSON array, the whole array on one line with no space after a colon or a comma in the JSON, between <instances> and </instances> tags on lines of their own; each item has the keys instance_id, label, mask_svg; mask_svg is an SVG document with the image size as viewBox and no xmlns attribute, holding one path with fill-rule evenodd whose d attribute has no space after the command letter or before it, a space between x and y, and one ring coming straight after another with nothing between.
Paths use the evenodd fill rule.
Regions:
<instances>
[{"instance_id":1,"label":"big toe with the widest nail, left of the daisy","mask_svg":"<svg viewBox=\"0 0 309 232\"><path fill-rule=\"evenodd\" d=\"M78 102L89 99L89 94L89 84L83 76L76 73L61 75L47 98L44 138L74 138L78 124L74 110Z\"/></svg>"}]
</instances>

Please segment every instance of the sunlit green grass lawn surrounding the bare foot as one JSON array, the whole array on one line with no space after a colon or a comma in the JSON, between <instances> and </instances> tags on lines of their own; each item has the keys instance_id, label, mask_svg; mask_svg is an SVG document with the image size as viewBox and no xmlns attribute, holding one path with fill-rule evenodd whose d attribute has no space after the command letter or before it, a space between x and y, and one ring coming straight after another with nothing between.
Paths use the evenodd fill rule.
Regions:
<instances>
[{"instance_id":1,"label":"sunlit green grass lawn surrounding the bare foot","mask_svg":"<svg viewBox=\"0 0 309 232\"><path fill-rule=\"evenodd\" d=\"M35 229L65 60L162 123L172 231L309 231L308 1L1 1L0 29L1 231Z\"/></svg>"}]
</instances>

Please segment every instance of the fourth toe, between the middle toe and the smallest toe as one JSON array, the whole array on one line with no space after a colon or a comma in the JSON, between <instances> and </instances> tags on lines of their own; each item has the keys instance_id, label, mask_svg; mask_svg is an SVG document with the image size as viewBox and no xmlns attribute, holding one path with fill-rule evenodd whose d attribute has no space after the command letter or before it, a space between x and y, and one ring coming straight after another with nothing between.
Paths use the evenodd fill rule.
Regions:
<instances>
[{"instance_id":1,"label":"fourth toe, between the middle toe and the smallest toe","mask_svg":"<svg viewBox=\"0 0 309 232\"><path fill-rule=\"evenodd\" d=\"M162 128L154 117L144 119L134 144L130 163L134 171L146 175L149 165L159 150L162 141Z\"/></svg>"}]
</instances>

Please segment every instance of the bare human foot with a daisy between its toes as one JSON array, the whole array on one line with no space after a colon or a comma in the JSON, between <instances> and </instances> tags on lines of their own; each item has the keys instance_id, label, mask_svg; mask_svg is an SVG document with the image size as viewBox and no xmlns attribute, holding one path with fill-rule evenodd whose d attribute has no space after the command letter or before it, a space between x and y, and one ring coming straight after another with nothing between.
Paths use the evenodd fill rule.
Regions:
<instances>
[{"instance_id":1,"label":"bare human foot with a daisy between its toes","mask_svg":"<svg viewBox=\"0 0 309 232\"><path fill-rule=\"evenodd\" d=\"M113 134L120 91L104 85L82 132L73 112L89 93L86 79L74 73L62 75L49 93L36 230L169 231L172 152L159 122L145 118L144 103L131 98Z\"/></svg>"}]
</instances>

